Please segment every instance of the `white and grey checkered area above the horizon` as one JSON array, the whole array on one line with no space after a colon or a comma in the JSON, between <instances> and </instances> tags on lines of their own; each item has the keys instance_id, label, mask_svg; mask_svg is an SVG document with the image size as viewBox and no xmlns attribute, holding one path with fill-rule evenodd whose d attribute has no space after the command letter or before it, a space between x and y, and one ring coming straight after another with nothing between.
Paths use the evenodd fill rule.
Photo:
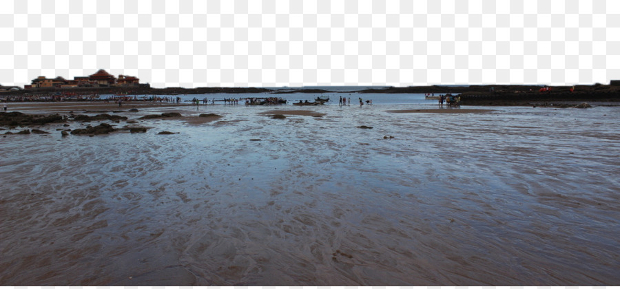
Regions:
<instances>
[{"instance_id":1,"label":"white and grey checkered area above the horizon","mask_svg":"<svg viewBox=\"0 0 620 289\"><path fill-rule=\"evenodd\" d=\"M0 83L153 87L620 79L617 0L6 0Z\"/></svg>"}]
</instances>

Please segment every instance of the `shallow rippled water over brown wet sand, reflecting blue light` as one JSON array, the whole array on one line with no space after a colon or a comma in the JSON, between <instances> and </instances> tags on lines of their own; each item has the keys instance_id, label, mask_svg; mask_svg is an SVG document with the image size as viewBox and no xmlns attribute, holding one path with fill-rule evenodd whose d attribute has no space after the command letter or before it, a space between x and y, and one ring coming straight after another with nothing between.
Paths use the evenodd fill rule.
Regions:
<instances>
[{"instance_id":1,"label":"shallow rippled water over brown wet sand, reflecting blue light","mask_svg":"<svg viewBox=\"0 0 620 289\"><path fill-rule=\"evenodd\" d=\"M0 138L0 284L619 283L619 107L416 108Z\"/></svg>"}]
</instances>

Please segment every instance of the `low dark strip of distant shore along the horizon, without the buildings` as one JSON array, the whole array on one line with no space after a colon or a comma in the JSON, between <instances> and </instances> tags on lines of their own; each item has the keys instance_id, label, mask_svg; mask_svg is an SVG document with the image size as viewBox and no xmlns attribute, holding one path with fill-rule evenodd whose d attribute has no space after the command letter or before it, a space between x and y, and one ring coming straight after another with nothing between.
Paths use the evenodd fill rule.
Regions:
<instances>
[{"instance_id":1,"label":"low dark strip of distant shore along the horizon, without the buildings","mask_svg":"<svg viewBox=\"0 0 620 289\"><path fill-rule=\"evenodd\" d=\"M362 89L349 92L334 92L326 89L267 89L262 87L75 87L75 88L37 88L19 91L0 92L0 100L10 102L21 96L52 96L58 94L127 96L174 96L192 94L459 94L462 105L546 105L562 102L620 103L618 85L575 85L551 86L549 92L539 92L541 85L468 85L468 86L410 86Z\"/></svg>"}]
</instances>

